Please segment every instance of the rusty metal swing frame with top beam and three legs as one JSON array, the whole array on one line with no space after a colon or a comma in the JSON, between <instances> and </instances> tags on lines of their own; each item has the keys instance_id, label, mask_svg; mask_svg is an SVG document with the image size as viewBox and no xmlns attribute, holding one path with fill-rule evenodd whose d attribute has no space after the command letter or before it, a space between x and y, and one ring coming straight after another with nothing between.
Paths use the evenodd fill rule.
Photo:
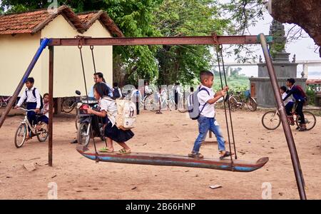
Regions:
<instances>
[{"instance_id":1,"label":"rusty metal swing frame with top beam and three legs","mask_svg":"<svg viewBox=\"0 0 321 214\"><path fill-rule=\"evenodd\" d=\"M41 46L36 52L33 60L26 70L23 78L21 79L14 96L6 107L6 110L0 118L0 128L3 125L6 116L10 109L14 105L14 101L19 95L26 78L30 75L34 68L36 61L39 59L42 51L49 47L49 166L53 165L53 111L54 101L52 95L54 94L54 46L136 46L136 45L223 45L223 44L261 44L263 54L265 56L265 62L267 64L267 71L270 75L270 81L272 83L272 89L275 94L275 100L277 108L280 112L280 118L282 121L283 130L285 132L285 138L287 146L290 151L293 169L295 172L295 178L297 181L297 188L301 199L306 199L304 180L302 170L300 167L300 161L297 156L295 148L295 141L292 136L290 125L287 123L287 115L285 107L280 96L279 86L277 83L277 77L272 64L272 58L267 48L267 43L272 43L272 36L265 37L264 34L258 36L178 36L178 37L143 37L143 38L88 38L79 36L75 39L41 39Z\"/></svg>"}]
</instances>

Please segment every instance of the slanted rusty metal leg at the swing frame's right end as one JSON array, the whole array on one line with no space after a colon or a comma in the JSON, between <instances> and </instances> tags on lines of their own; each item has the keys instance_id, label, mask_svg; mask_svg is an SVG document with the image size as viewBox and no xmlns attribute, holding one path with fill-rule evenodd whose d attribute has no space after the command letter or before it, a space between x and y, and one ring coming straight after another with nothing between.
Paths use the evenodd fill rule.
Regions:
<instances>
[{"instance_id":1,"label":"slanted rusty metal leg at the swing frame's right end","mask_svg":"<svg viewBox=\"0 0 321 214\"><path fill-rule=\"evenodd\" d=\"M305 195L305 185L304 185L304 181L303 181L302 170L300 167L299 156L297 156L297 150L295 148L295 141L293 139L290 125L287 122L287 113L285 111L285 107L284 107L281 95L279 93L279 84L277 83L277 76L275 75L275 70L273 67L273 63L272 63L272 59L270 57L269 50L267 48L267 42L266 42L265 36L264 36L264 34L260 34L259 36L260 36L261 46L263 49L263 54L265 56L267 71L269 72L270 80L272 83L272 89L273 89L273 92L275 95L275 101L277 103L277 109L280 113L280 119L282 121L283 131L285 133L285 138L287 140L287 146L289 147L289 150L290 150L292 165L293 165L293 169L295 172L295 179L297 181L297 188L299 190L300 199L306 200L307 197Z\"/></svg>"}]
</instances>

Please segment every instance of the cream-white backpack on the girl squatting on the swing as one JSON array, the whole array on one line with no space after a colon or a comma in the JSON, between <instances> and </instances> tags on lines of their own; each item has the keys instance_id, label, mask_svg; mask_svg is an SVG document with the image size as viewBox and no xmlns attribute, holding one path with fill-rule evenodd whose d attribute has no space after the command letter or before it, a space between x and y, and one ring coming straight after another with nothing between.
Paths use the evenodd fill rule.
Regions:
<instances>
[{"instance_id":1,"label":"cream-white backpack on the girl squatting on the swing","mask_svg":"<svg viewBox=\"0 0 321 214\"><path fill-rule=\"evenodd\" d=\"M116 99L116 126L124 131L136 126L136 104L125 99Z\"/></svg>"}]
</instances>

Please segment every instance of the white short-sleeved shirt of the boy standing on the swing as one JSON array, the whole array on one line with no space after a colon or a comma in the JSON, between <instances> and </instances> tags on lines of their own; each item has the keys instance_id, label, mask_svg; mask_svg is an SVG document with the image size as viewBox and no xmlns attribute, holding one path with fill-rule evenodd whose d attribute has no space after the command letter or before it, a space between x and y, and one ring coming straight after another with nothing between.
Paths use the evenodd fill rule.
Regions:
<instances>
[{"instance_id":1,"label":"white short-sleeved shirt of the boy standing on the swing","mask_svg":"<svg viewBox=\"0 0 321 214\"><path fill-rule=\"evenodd\" d=\"M212 88L208 88L206 86L200 86L200 88L205 88L210 93L210 95L208 95L208 92L204 90L198 92L198 102L200 103L200 107L199 107L200 111L202 111L204 107L200 115L205 116L207 118L214 118L215 117L214 103L209 104L208 101L214 98L215 93L213 92Z\"/></svg>"}]
</instances>

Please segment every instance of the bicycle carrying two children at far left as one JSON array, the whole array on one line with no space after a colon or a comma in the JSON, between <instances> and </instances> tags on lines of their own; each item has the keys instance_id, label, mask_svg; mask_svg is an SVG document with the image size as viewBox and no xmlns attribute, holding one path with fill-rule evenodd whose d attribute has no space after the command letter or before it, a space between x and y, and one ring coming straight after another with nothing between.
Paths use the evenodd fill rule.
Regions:
<instances>
[{"instance_id":1,"label":"bicycle carrying two children at far left","mask_svg":"<svg viewBox=\"0 0 321 214\"><path fill-rule=\"evenodd\" d=\"M25 111L24 120L21 121L19 127L16 130L16 135L14 136L14 145L16 148L21 148L24 146L24 143L26 142L26 138L29 135L30 138L36 136L38 138L39 142L45 142L48 138L48 130L47 130L47 124L43 122L39 122L38 124L31 126L28 118L27 113L29 111L35 111L35 110L27 110L25 108L19 108L22 111ZM36 116L39 117L39 116ZM36 129L36 126L39 126L39 129Z\"/></svg>"}]
</instances>

